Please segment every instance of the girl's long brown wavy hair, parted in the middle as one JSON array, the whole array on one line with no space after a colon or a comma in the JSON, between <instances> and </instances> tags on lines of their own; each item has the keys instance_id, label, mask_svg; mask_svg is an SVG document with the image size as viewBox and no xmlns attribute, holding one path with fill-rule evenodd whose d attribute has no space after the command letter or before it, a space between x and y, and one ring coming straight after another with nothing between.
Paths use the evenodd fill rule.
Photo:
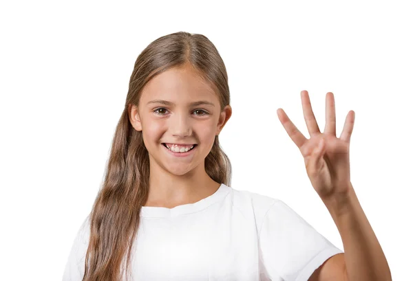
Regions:
<instances>
[{"instance_id":1,"label":"girl's long brown wavy hair, parted in the middle","mask_svg":"<svg viewBox=\"0 0 413 281\"><path fill-rule=\"evenodd\" d=\"M131 249L140 222L140 209L149 193L149 155L129 122L129 104L138 106L140 94L154 76L173 67L191 65L209 82L220 99L221 111L230 102L224 62L202 34L176 32L150 43L138 56L129 80L125 108L112 141L105 179L89 214L90 238L83 281L123 280L121 266L130 269ZM231 162L220 148L218 135L205 158L205 170L218 183L231 185Z\"/></svg>"}]
</instances>

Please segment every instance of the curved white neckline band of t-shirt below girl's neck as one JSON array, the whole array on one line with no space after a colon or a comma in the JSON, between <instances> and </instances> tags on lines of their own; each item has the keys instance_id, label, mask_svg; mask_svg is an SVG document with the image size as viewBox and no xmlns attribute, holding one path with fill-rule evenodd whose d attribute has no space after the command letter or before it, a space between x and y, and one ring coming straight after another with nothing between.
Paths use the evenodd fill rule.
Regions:
<instances>
[{"instance_id":1,"label":"curved white neckline band of t-shirt below girl's neck","mask_svg":"<svg viewBox=\"0 0 413 281\"><path fill-rule=\"evenodd\" d=\"M229 186L226 186L224 183L221 183L218 190L210 196L201 199L200 201L197 201L195 203L178 205L171 209L167 207L142 206L140 210L140 216L151 218L167 218L172 216L180 216L183 214L195 213L205 209L206 207L209 207L213 203L222 199L226 194L228 194L229 189Z\"/></svg>"}]
</instances>

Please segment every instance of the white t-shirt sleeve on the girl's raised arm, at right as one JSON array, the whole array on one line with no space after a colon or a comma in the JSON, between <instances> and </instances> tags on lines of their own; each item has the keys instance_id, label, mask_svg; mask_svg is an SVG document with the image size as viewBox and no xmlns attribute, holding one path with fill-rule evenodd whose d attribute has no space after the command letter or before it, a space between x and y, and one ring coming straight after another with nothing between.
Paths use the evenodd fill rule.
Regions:
<instances>
[{"instance_id":1,"label":"white t-shirt sleeve on the girl's raised arm, at right","mask_svg":"<svg viewBox=\"0 0 413 281\"><path fill-rule=\"evenodd\" d=\"M308 281L328 258L343 251L277 200L260 229L260 259L271 280Z\"/></svg>"}]
</instances>

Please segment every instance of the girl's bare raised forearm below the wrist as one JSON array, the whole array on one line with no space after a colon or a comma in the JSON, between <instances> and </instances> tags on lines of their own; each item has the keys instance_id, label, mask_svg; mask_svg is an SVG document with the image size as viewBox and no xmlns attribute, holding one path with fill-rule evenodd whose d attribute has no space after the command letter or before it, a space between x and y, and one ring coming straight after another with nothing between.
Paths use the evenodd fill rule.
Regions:
<instances>
[{"instance_id":1,"label":"girl's bare raised forearm below the wrist","mask_svg":"<svg viewBox=\"0 0 413 281\"><path fill-rule=\"evenodd\" d=\"M324 203L343 240L348 281L391 281L388 262L351 183L347 196Z\"/></svg>"}]
</instances>

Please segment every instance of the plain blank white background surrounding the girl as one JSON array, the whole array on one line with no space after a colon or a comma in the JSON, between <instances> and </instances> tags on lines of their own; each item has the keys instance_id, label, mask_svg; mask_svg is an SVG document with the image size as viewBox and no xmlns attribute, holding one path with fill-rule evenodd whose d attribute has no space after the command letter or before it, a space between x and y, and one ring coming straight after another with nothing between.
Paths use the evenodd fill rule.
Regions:
<instances>
[{"instance_id":1,"label":"plain blank white background surrounding the girl","mask_svg":"<svg viewBox=\"0 0 413 281\"><path fill-rule=\"evenodd\" d=\"M231 186L282 199L343 249L276 114L306 137L300 91L337 135L356 113L351 179L393 280L412 267L413 17L408 1L4 1L0 4L0 279L61 280L103 179L134 62L156 38L200 33L229 75L220 135Z\"/></svg>"}]
</instances>

